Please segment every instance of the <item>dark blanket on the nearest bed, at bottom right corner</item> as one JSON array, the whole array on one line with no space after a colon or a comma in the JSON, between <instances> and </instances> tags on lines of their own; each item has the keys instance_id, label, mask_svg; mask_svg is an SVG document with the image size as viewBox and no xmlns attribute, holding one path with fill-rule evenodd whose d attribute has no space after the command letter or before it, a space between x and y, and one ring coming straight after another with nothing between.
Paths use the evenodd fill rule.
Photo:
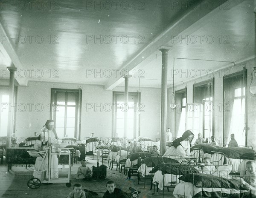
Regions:
<instances>
[{"instance_id":1,"label":"dark blanket on the nearest bed, at bottom right corner","mask_svg":"<svg viewBox=\"0 0 256 198\"><path fill-rule=\"evenodd\" d=\"M240 190L248 190L248 185L244 185L241 178L226 179L218 176L206 175L202 173L194 173L183 175L179 178L194 184L198 188L233 188Z\"/></svg>"}]
</instances>

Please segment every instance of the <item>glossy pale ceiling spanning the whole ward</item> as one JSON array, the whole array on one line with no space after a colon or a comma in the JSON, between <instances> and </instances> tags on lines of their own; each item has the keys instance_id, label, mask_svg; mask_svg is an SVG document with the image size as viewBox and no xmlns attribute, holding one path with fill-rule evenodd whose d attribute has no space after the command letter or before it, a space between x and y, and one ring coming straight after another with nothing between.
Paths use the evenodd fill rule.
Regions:
<instances>
[{"instance_id":1,"label":"glossy pale ceiling spanning the whole ward","mask_svg":"<svg viewBox=\"0 0 256 198\"><path fill-rule=\"evenodd\" d=\"M174 57L177 85L254 56L255 0L200 1L198 5L192 0L138 0L133 1L136 8L129 3L128 9L120 3L115 7L112 1L109 1L113 4L110 9L107 4L95 8L81 0L54 2L42 3L43 9L35 4L27 4L25 9L18 4L17 9L8 4L1 8L0 67L6 69L13 63L20 85L40 80L100 84L113 89L124 84L121 76L126 72L121 71L127 69L132 75L129 86L138 86L141 79L140 86L160 87L160 46L171 49L169 86L173 80ZM100 5L104 1L90 2ZM182 6L184 3L188 7ZM113 35L118 35L116 40ZM186 35L187 40L180 40ZM15 36L17 43L6 40ZM102 43L90 40L101 36ZM125 43L126 36L128 43ZM44 41L39 43L41 38ZM29 69L34 69L30 76ZM44 72L42 77L38 69ZM95 72L102 76L95 77Z\"/></svg>"}]
</instances>

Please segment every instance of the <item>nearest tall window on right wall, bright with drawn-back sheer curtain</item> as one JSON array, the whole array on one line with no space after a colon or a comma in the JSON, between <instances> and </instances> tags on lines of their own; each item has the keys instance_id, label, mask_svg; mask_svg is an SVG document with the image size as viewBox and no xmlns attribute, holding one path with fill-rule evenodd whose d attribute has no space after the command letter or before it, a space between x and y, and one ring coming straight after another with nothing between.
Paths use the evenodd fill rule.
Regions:
<instances>
[{"instance_id":1,"label":"nearest tall window on right wall, bright with drawn-back sheer curtain","mask_svg":"<svg viewBox=\"0 0 256 198\"><path fill-rule=\"evenodd\" d=\"M246 145L246 70L225 76L223 83L224 144L228 144L233 133L239 145Z\"/></svg>"}]
</instances>

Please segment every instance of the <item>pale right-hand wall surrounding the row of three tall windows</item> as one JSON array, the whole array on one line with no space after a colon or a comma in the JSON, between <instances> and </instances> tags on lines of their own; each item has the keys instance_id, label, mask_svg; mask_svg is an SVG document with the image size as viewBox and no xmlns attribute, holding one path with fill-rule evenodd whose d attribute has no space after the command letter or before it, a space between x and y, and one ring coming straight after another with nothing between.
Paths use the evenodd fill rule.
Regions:
<instances>
[{"instance_id":1,"label":"pale right-hand wall surrounding the row of three tall windows","mask_svg":"<svg viewBox=\"0 0 256 198\"><path fill-rule=\"evenodd\" d=\"M223 76L225 74L232 74L243 70L243 67L247 69L247 114L248 114L248 127L250 130L247 135L247 145L253 146L255 149L256 142L256 97L252 97L249 94L250 85L250 74L253 71L254 62L249 61L245 64L237 65L234 67L226 68L222 72L215 72L214 75L214 127L215 127L215 137L219 143L223 143L223 109L220 109L223 104ZM227 72L228 71L228 72ZM209 80L209 77L201 77L185 83L182 86L175 87L176 90L184 89L187 87L187 103L193 103L193 84L202 82L204 80ZM172 89L168 92L169 98L172 96ZM170 103L170 101L169 101ZM171 129L173 136L175 131L175 113L171 108L168 109L168 127ZM197 136L197 135L196 135Z\"/></svg>"}]
</instances>

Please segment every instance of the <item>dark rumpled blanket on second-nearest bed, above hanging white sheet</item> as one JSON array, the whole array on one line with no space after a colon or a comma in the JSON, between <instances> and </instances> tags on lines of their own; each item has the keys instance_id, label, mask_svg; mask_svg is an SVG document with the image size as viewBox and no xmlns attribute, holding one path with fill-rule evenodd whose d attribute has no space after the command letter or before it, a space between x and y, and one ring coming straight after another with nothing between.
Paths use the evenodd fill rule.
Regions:
<instances>
[{"instance_id":1,"label":"dark rumpled blanket on second-nearest bed, above hanging white sheet","mask_svg":"<svg viewBox=\"0 0 256 198\"><path fill-rule=\"evenodd\" d=\"M193 168L190 166L189 169L189 165L187 164L181 164L179 167L180 163L166 163L166 164L158 164L157 166L155 166L153 168L153 170L150 171L150 173L155 173L158 170L162 171L162 174L173 174L173 175L185 175L185 174L189 174L191 172L198 172L197 169ZM177 170L177 168L179 167L179 169Z\"/></svg>"}]
</instances>

